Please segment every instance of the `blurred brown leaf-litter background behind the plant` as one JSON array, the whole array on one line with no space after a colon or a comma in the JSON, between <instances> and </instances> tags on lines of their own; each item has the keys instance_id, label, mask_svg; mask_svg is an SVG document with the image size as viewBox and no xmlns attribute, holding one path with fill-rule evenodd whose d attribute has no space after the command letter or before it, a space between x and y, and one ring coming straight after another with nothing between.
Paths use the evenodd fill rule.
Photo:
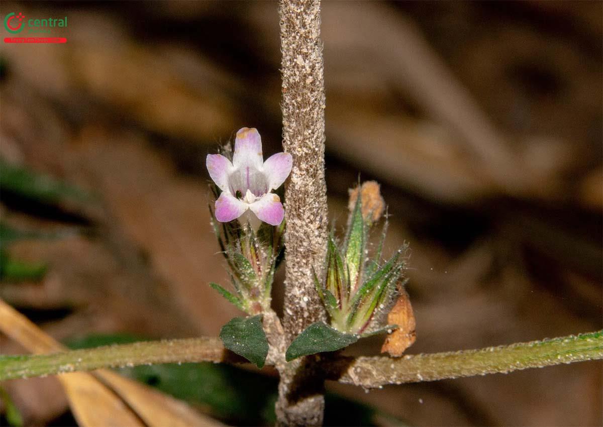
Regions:
<instances>
[{"instance_id":1,"label":"blurred brown leaf-litter background behind the plant","mask_svg":"<svg viewBox=\"0 0 603 427\"><path fill-rule=\"evenodd\" d=\"M205 156L244 126L266 156L281 150L276 2L0 11L68 17L49 34L66 44L2 43L0 297L64 342L217 335L239 313L207 286L228 278ZM330 216L341 232L358 176L382 184L388 248L411 247L408 352L601 329L601 2L324 2L322 37ZM170 391L158 372L137 375ZM240 414L260 403L233 413L245 396L224 391L249 376L241 390L270 411L273 380L201 374L171 391L227 422L269 422ZM600 362L370 393L328 384L327 423L369 422L344 418L345 397L374 425L602 425L602 385ZM1 387L26 425L74 422L54 378Z\"/></svg>"}]
</instances>

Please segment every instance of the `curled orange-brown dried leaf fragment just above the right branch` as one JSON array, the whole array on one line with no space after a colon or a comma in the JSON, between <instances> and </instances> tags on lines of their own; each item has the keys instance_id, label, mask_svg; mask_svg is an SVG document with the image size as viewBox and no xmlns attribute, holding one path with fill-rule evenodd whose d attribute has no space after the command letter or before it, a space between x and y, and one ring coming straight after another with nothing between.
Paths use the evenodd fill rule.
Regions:
<instances>
[{"instance_id":1,"label":"curled orange-brown dried leaf fragment just above the right branch","mask_svg":"<svg viewBox=\"0 0 603 427\"><path fill-rule=\"evenodd\" d=\"M398 329L385 338L381 347L382 353L390 353L391 356L399 357L417 339L415 334L415 318L412 312L411 300L405 289L401 289L400 296L387 315L388 324L397 324Z\"/></svg>"}]
</instances>

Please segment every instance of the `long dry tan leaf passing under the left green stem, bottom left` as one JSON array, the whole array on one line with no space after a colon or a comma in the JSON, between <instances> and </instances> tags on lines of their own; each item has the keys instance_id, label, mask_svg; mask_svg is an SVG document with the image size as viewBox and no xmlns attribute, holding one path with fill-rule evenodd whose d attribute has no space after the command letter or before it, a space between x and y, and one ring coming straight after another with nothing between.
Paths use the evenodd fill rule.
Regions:
<instances>
[{"instance_id":1,"label":"long dry tan leaf passing under the left green stem, bottom left","mask_svg":"<svg viewBox=\"0 0 603 427\"><path fill-rule=\"evenodd\" d=\"M66 348L0 299L0 331L33 353ZM212 426L186 403L106 369L57 375L78 424L106 426Z\"/></svg>"}]
</instances>

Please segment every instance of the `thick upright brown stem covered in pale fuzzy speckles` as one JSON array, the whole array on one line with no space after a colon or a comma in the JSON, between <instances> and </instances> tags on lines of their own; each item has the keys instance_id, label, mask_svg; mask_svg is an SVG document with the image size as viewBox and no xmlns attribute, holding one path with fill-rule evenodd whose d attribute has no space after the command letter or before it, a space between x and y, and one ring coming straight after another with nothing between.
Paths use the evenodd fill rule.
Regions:
<instances>
[{"instance_id":1,"label":"thick upright brown stem covered in pale fuzzy speckles","mask_svg":"<svg viewBox=\"0 0 603 427\"><path fill-rule=\"evenodd\" d=\"M326 312L312 280L319 276L327 248L327 197L324 182L323 43L320 0L280 0L283 78L283 147L293 157L285 185L285 315L286 341ZM320 425L323 381L303 375L309 361L279 368L281 383L276 410L280 425Z\"/></svg>"}]
</instances>

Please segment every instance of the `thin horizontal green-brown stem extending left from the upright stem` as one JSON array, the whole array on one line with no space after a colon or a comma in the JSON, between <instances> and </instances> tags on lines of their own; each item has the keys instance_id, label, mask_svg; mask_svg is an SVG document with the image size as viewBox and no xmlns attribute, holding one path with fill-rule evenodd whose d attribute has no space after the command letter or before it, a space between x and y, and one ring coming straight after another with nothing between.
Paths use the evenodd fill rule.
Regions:
<instances>
[{"instance_id":1,"label":"thin horizontal green-brown stem extending left from the upright stem","mask_svg":"<svg viewBox=\"0 0 603 427\"><path fill-rule=\"evenodd\" d=\"M241 361L224 349L218 338L144 341L45 355L0 356L0 381L143 364Z\"/></svg>"}]
</instances>

